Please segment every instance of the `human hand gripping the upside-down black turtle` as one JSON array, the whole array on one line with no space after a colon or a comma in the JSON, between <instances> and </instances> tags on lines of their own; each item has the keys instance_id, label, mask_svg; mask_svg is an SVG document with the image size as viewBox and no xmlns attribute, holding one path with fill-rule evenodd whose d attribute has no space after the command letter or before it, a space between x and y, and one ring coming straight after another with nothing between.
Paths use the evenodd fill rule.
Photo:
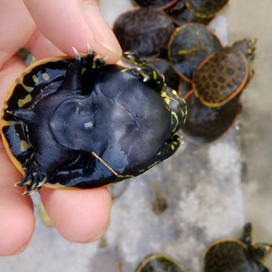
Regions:
<instances>
[{"instance_id":1,"label":"human hand gripping the upside-down black turtle","mask_svg":"<svg viewBox=\"0 0 272 272\"><path fill-rule=\"evenodd\" d=\"M16 76L25 68L16 55L26 47L37 59L66 53L73 47L92 50L116 63L121 48L99 12L98 0L0 0L0 103ZM22 175L9 160L0 142L0 256L21 252L34 232L31 198L15 188ZM40 189L44 208L55 228L73 242L100 238L109 224L108 189Z\"/></svg>"}]
</instances>

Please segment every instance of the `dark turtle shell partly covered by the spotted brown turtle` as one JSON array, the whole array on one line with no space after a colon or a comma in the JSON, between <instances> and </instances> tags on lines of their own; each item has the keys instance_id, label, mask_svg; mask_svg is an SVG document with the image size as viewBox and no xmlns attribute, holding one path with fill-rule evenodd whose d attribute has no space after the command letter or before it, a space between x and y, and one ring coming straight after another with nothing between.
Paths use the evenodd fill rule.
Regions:
<instances>
[{"instance_id":1,"label":"dark turtle shell partly covered by the spotted brown turtle","mask_svg":"<svg viewBox=\"0 0 272 272\"><path fill-rule=\"evenodd\" d=\"M188 106L188 116L182 131L185 137L197 143L217 140L232 127L241 109L238 98L214 108L199 102L192 91L184 99Z\"/></svg>"}]
</instances>

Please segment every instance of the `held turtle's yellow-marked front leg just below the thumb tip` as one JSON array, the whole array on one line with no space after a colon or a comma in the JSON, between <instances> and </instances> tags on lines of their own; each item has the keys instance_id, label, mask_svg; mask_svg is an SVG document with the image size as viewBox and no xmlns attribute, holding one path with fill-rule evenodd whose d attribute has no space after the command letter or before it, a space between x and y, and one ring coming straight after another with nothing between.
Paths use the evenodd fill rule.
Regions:
<instances>
[{"instance_id":1,"label":"held turtle's yellow-marked front leg just below the thumb tip","mask_svg":"<svg viewBox=\"0 0 272 272\"><path fill-rule=\"evenodd\" d=\"M160 92L165 85L164 75L151 63L141 59L137 54L131 52L126 52L125 54L135 63L136 69L142 76L142 81Z\"/></svg>"}]
</instances>

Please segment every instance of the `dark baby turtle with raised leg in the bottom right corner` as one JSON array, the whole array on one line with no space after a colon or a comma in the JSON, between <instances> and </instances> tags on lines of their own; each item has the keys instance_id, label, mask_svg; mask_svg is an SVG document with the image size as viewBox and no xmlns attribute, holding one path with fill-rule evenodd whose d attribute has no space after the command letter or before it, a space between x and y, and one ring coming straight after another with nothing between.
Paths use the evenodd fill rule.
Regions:
<instances>
[{"instance_id":1,"label":"dark baby turtle with raised leg in the bottom right corner","mask_svg":"<svg viewBox=\"0 0 272 272\"><path fill-rule=\"evenodd\" d=\"M252 226L248 223L240 239L226 238L213 243L204 256L204 272L268 272L263 263L272 245L253 243L251 232Z\"/></svg>"}]
</instances>

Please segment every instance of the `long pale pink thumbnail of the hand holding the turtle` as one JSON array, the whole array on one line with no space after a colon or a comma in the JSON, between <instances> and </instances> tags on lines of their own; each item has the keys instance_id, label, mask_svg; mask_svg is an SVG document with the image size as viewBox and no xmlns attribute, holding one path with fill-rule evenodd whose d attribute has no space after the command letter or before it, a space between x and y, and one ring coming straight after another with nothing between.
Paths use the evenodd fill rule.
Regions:
<instances>
[{"instance_id":1,"label":"long pale pink thumbnail of the hand holding the turtle","mask_svg":"<svg viewBox=\"0 0 272 272\"><path fill-rule=\"evenodd\" d=\"M112 29L103 19L96 1L84 1L83 14L96 42L120 58L121 46Z\"/></svg>"}]
</instances>

